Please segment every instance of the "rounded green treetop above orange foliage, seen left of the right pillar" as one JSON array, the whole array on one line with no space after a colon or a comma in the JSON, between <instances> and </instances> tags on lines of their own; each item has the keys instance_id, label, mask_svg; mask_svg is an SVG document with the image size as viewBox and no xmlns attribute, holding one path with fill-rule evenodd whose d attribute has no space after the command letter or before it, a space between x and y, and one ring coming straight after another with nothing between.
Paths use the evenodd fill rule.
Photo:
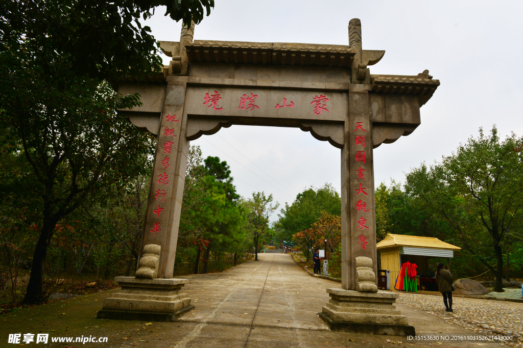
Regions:
<instances>
[{"instance_id":1,"label":"rounded green treetop above orange foliage, seen left of the right pillar","mask_svg":"<svg viewBox=\"0 0 523 348\"><path fill-rule=\"evenodd\" d=\"M324 211L333 215L341 215L342 201L331 184L314 190L313 187L304 190L296 196L292 205L285 203L285 208L278 214L276 226L282 229L280 236L290 240L292 235L308 229Z\"/></svg>"}]
</instances>

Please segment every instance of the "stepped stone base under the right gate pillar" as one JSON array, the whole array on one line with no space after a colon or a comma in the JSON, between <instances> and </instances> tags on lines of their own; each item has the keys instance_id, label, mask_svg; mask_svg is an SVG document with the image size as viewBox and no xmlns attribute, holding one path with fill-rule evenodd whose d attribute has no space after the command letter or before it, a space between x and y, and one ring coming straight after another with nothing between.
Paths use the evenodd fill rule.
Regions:
<instances>
[{"instance_id":1,"label":"stepped stone base under the right gate pillar","mask_svg":"<svg viewBox=\"0 0 523 348\"><path fill-rule=\"evenodd\" d=\"M341 289L327 289L327 292L331 299L319 315L333 331L415 335L414 327L408 325L407 317L394 305L400 297L398 294Z\"/></svg>"}]
</instances>

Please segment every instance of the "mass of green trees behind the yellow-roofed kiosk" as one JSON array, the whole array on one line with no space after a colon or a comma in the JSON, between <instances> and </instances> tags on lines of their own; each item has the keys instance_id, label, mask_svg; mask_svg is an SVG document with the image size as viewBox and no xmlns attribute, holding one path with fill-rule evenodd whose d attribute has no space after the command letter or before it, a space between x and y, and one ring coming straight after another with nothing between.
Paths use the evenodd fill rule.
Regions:
<instances>
[{"instance_id":1,"label":"mass of green trees behind the yellow-roofed kiosk","mask_svg":"<svg viewBox=\"0 0 523 348\"><path fill-rule=\"evenodd\" d=\"M490 271L501 291L507 253L509 267L523 271L516 243L523 236L523 155L516 151L522 141L514 134L499 139L495 127L490 135L480 129L479 137L441 163L407 173L404 191L394 182L381 184L376 190L378 239L386 233L411 234L457 245L462 250L453 273L474 277Z\"/></svg>"}]
</instances>

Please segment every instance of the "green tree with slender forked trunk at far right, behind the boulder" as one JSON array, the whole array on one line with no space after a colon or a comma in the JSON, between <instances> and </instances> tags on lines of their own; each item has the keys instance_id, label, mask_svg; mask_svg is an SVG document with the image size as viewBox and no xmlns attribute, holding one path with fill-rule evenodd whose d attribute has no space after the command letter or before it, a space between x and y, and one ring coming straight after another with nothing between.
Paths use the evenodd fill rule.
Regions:
<instances>
[{"instance_id":1,"label":"green tree with slender forked trunk at far right, behind the boulder","mask_svg":"<svg viewBox=\"0 0 523 348\"><path fill-rule=\"evenodd\" d=\"M503 249L507 236L521 231L523 205L523 138L501 141L480 128L441 164L425 164L407 175L407 193L419 197L456 232L459 244L496 275L503 291ZM495 265L491 265L491 259Z\"/></svg>"}]
</instances>

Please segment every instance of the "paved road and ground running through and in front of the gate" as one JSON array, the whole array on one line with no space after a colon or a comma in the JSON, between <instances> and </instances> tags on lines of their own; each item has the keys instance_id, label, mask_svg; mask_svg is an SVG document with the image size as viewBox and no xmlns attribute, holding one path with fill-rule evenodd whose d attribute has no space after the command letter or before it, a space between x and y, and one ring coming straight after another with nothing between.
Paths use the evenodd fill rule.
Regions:
<instances>
[{"instance_id":1,"label":"paved road and ground running through and in front of the gate","mask_svg":"<svg viewBox=\"0 0 523 348\"><path fill-rule=\"evenodd\" d=\"M14 346L6 343L9 333L49 333L51 338L107 337L108 342L50 342L47 345L32 342L29 345L62 348L499 347L498 343L488 342L419 343L407 342L405 337L328 331L316 314L327 302L325 289L339 288L340 283L311 277L288 254L259 254L258 257L259 261L250 260L225 272L186 277L189 279L187 293L196 308L177 322L96 319L103 299L110 295L110 291L106 291L0 317L0 346ZM407 296L402 297L403 302L408 301ZM436 296L428 297L414 297L413 305L419 305L416 302L420 298L429 304L439 300ZM422 309L405 304L397 307L418 333L474 333ZM461 307L457 303L456 308Z\"/></svg>"}]
</instances>

